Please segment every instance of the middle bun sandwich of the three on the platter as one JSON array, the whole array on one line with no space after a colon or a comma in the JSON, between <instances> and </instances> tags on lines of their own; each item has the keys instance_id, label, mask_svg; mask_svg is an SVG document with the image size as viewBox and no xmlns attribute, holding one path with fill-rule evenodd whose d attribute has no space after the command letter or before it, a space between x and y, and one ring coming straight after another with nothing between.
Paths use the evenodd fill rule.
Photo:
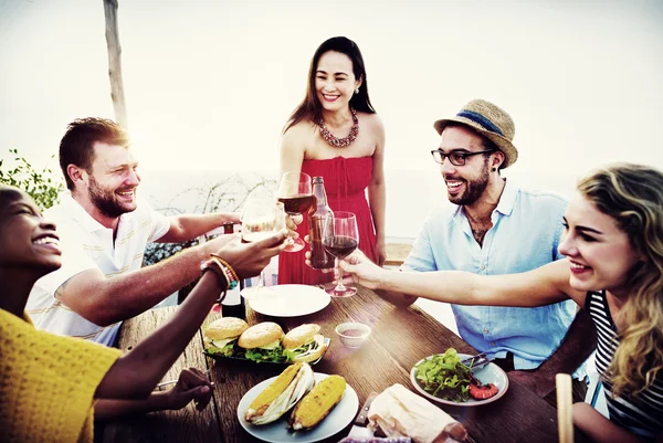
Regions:
<instances>
[{"instance_id":1,"label":"middle bun sandwich of the three on the platter","mask_svg":"<svg viewBox=\"0 0 663 443\"><path fill-rule=\"evenodd\" d=\"M275 323L263 321L244 330L238 339L238 345L244 350L248 360L263 362L284 362L281 339L283 329Z\"/></svg>"}]
</instances>

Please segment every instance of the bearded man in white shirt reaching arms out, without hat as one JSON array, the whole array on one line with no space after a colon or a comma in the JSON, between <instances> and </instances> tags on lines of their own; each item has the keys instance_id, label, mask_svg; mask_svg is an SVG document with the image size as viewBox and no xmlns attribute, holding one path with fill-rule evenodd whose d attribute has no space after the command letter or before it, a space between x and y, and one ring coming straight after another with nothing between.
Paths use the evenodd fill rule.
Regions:
<instances>
[{"instance_id":1,"label":"bearded man in white shirt reaching arms out, without hat","mask_svg":"<svg viewBox=\"0 0 663 443\"><path fill-rule=\"evenodd\" d=\"M141 268L147 243L179 243L209 232L234 213L166 218L138 203L138 164L125 130L102 118L71 123L60 144L69 192L46 211L57 224L62 268L34 285L27 312L40 329L113 345L122 320L192 282L200 263L229 238Z\"/></svg>"}]
</instances>

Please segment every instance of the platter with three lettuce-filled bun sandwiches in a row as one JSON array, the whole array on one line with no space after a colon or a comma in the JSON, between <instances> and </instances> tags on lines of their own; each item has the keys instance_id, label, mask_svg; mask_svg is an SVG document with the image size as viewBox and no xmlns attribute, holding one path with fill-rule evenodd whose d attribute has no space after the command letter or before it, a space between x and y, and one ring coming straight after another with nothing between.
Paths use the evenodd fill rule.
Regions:
<instances>
[{"instance_id":1,"label":"platter with three lettuce-filled bun sandwiches in a row","mask_svg":"<svg viewBox=\"0 0 663 443\"><path fill-rule=\"evenodd\" d=\"M222 317L204 328L203 352L213 358L257 363L315 365L332 342L319 331L319 325L304 324L284 334L281 326L272 321L249 326L241 318Z\"/></svg>"}]
</instances>

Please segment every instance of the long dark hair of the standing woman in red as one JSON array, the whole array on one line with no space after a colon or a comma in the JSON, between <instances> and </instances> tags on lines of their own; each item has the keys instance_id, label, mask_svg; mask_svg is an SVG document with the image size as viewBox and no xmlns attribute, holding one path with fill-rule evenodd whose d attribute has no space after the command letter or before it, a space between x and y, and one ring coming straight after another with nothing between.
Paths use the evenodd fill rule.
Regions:
<instances>
[{"instance_id":1,"label":"long dark hair of the standing woman in red","mask_svg":"<svg viewBox=\"0 0 663 443\"><path fill-rule=\"evenodd\" d=\"M320 57L323 54L329 51L340 52L341 54L347 55L352 62L352 73L355 74L355 78L362 78L361 86L359 87L359 94L352 95L352 98L350 98L350 106L359 112L368 114L376 113L376 109L373 109L372 105L370 104L370 98L368 97L366 67L364 66L364 57L361 56L359 46L357 46L357 43L348 38L333 36L320 44L315 51L315 54L313 54L311 66L308 67L308 84L306 85L306 95L304 96L304 99L299 106L297 106L297 108L290 116L283 133L287 131L291 127L304 119L317 122L323 118L323 106L320 105L315 92L315 73L317 71L317 65L320 61Z\"/></svg>"}]
</instances>

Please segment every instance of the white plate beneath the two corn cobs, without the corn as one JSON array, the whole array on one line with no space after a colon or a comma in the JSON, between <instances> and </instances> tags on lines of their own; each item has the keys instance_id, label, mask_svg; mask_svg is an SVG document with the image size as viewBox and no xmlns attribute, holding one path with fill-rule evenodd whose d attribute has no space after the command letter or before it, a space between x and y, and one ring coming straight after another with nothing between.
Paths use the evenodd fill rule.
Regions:
<instances>
[{"instance_id":1,"label":"white plate beneath the two corn cobs, without the corn","mask_svg":"<svg viewBox=\"0 0 663 443\"><path fill-rule=\"evenodd\" d=\"M326 373L315 372L315 380L319 382L329 377ZM317 426L311 431L290 432L287 430L287 418L290 412L285 413L281 419L269 424L254 425L244 420L244 412L249 409L251 402L267 387L276 377L272 377L253 388L242 397L238 405L238 419L242 428L256 439L264 440L271 443L311 443L327 439L347 426L359 410L359 398L351 386L346 384L346 390L343 398Z\"/></svg>"}]
</instances>

